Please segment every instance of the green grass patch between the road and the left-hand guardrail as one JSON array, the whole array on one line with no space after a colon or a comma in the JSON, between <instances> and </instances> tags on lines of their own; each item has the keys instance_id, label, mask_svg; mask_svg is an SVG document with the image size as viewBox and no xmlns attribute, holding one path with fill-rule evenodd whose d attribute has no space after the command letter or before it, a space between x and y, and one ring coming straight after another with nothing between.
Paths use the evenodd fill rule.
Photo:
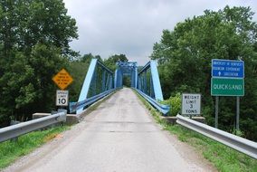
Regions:
<instances>
[{"instance_id":1,"label":"green grass patch between the road and the left-hand guardrail","mask_svg":"<svg viewBox=\"0 0 257 172\"><path fill-rule=\"evenodd\" d=\"M0 170L11 165L17 158L29 154L35 148L39 148L44 143L60 137L60 133L67 129L71 129L71 127L64 125L42 131L33 131L19 137L17 141L7 140L0 143Z\"/></svg>"}]
</instances>

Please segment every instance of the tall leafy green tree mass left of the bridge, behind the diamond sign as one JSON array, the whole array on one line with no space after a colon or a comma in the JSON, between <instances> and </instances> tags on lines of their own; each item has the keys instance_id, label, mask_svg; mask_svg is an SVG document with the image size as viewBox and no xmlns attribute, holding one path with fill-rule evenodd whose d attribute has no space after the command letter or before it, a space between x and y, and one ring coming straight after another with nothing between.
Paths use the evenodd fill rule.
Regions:
<instances>
[{"instance_id":1,"label":"tall leafy green tree mass left of the bridge, behind the diamond sign","mask_svg":"<svg viewBox=\"0 0 257 172\"><path fill-rule=\"evenodd\" d=\"M0 24L0 123L6 124L52 109L52 76L75 54L69 43L78 34L62 0L1 1Z\"/></svg>"}]
</instances>

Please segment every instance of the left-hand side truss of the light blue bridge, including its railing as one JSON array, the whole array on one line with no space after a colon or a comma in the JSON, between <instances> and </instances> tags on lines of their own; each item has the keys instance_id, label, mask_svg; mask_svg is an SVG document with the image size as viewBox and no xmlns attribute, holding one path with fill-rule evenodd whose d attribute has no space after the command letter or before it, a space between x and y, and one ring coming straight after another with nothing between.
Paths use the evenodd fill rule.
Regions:
<instances>
[{"instance_id":1,"label":"left-hand side truss of the light blue bridge, including its railing","mask_svg":"<svg viewBox=\"0 0 257 172\"><path fill-rule=\"evenodd\" d=\"M80 114L84 107L107 96L114 89L114 74L98 59L92 59L78 102L70 102L70 112Z\"/></svg>"}]
</instances>

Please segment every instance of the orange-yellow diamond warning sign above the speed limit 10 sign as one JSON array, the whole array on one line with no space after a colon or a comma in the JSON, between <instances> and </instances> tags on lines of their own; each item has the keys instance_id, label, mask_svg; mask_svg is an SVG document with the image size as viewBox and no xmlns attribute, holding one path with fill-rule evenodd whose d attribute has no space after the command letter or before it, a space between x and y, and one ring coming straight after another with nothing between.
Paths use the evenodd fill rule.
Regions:
<instances>
[{"instance_id":1,"label":"orange-yellow diamond warning sign above the speed limit 10 sign","mask_svg":"<svg viewBox=\"0 0 257 172\"><path fill-rule=\"evenodd\" d=\"M52 81L56 83L56 85L64 90L68 85L73 81L71 75L64 69L58 72L54 77L52 77Z\"/></svg>"}]
</instances>

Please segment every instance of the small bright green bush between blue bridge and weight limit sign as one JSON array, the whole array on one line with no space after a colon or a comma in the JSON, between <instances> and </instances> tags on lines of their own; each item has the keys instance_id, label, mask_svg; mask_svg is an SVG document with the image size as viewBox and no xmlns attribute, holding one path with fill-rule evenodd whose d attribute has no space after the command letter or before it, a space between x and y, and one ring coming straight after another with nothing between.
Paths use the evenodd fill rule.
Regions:
<instances>
[{"instance_id":1,"label":"small bright green bush between blue bridge and weight limit sign","mask_svg":"<svg viewBox=\"0 0 257 172\"><path fill-rule=\"evenodd\" d=\"M181 111L181 94L176 93L174 97L171 96L168 100L164 100L163 103L171 107L167 115L176 116Z\"/></svg>"}]
</instances>

